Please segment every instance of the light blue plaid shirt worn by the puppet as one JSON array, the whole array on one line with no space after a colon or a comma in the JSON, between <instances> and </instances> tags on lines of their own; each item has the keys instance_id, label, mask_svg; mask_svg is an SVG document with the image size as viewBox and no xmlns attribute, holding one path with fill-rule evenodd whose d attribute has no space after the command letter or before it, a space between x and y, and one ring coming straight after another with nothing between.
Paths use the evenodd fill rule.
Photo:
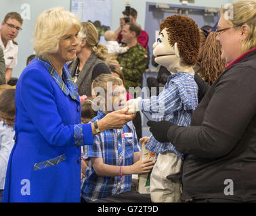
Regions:
<instances>
[{"instance_id":1,"label":"light blue plaid shirt worn by the puppet","mask_svg":"<svg viewBox=\"0 0 256 216\"><path fill-rule=\"evenodd\" d=\"M194 76L186 72L171 74L163 92L150 99L143 99L139 109L152 114L155 121L170 121L177 126L190 126L191 116L198 105L198 86ZM181 159L183 155L175 150L171 142L158 142L150 136L146 149L152 153L173 151Z\"/></svg>"}]
</instances>

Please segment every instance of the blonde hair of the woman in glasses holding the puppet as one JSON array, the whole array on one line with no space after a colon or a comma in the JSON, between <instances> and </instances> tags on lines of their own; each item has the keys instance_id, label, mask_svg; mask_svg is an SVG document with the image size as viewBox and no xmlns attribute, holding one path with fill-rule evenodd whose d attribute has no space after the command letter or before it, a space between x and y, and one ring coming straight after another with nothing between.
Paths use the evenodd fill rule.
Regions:
<instances>
[{"instance_id":1,"label":"blonde hair of the woman in glasses holding the puppet","mask_svg":"<svg viewBox=\"0 0 256 216\"><path fill-rule=\"evenodd\" d=\"M250 28L249 36L242 41L242 53L245 53L256 47L256 2L255 1L237 1L232 3L230 8L221 8L221 15L228 13L228 22L234 27L240 27L247 24ZM232 15L232 16L231 16Z\"/></svg>"}]
</instances>

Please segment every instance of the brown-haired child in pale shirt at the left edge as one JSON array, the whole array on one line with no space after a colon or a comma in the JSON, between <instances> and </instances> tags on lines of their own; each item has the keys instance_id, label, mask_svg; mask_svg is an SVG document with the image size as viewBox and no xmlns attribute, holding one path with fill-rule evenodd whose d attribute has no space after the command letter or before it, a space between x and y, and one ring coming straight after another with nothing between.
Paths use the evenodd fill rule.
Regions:
<instances>
[{"instance_id":1,"label":"brown-haired child in pale shirt at the left edge","mask_svg":"<svg viewBox=\"0 0 256 216\"><path fill-rule=\"evenodd\" d=\"M0 93L0 202L3 198L7 163L14 146L14 99L15 89L12 87Z\"/></svg>"}]
</instances>

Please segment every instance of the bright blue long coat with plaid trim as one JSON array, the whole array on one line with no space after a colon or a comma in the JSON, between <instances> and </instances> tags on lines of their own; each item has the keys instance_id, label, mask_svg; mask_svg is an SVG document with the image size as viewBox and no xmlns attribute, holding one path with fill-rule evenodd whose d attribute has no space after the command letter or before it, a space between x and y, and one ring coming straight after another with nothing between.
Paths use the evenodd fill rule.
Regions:
<instances>
[{"instance_id":1,"label":"bright blue long coat with plaid trim","mask_svg":"<svg viewBox=\"0 0 256 216\"><path fill-rule=\"evenodd\" d=\"M37 57L18 80L16 137L3 202L80 202L81 145L93 144L91 125L81 124L79 96L70 97L75 89L66 85L66 65L65 83L49 69L55 71Z\"/></svg>"}]
</instances>

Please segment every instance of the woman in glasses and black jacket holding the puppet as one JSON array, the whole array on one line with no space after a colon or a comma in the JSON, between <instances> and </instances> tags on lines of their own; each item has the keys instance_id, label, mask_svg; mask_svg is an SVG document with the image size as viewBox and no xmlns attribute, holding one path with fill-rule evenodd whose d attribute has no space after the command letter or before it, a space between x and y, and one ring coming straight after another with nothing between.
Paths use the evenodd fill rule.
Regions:
<instances>
[{"instance_id":1,"label":"woman in glasses and black jacket holding the puppet","mask_svg":"<svg viewBox=\"0 0 256 216\"><path fill-rule=\"evenodd\" d=\"M256 201L256 3L221 10L217 40L228 65L208 86L199 76L189 128L149 121L160 142L184 153L182 200Z\"/></svg>"}]
</instances>

